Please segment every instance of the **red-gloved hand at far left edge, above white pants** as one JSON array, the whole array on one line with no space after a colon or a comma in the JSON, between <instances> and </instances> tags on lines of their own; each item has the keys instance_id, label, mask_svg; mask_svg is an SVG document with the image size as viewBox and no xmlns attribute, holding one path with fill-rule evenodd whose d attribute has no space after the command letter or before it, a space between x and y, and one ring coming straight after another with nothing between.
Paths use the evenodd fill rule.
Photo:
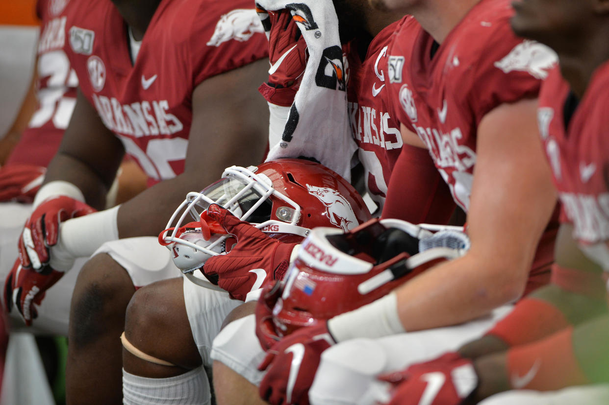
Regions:
<instances>
[{"instance_id":1,"label":"red-gloved hand at far left edge, above white pants","mask_svg":"<svg viewBox=\"0 0 609 405\"><path fill-rule=\"evenodd\" d=\"M0 202L18 201L30 203L40 189L46 168L10 164L0 168Z\"/></svg>"}]
</instances>

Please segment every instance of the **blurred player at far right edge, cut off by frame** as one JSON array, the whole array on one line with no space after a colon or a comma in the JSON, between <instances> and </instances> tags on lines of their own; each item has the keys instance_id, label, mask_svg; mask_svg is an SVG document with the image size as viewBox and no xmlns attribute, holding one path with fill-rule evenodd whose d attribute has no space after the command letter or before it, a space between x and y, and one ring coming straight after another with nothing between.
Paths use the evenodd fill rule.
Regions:
<instances>
[{"instance_id":1,"label":"blurred player at far right edge, cut off by frame","mask_svg":"<svg viewBox=\"0 0 609 405\"><path fill-rule=\"evenodd\" d=\"M564 209L552 283L518 302L484 338L385 376L395 386L392 404L417 403L432 375L443 383L430 404L488 396L485 405L609 403L603 274L609 269L609 8L603 1L551 0L513 8L515 32L552 47L559 60L541 87L538 109L539 136ZM493 341L507 350L488 353ZM467 384L451 377L457 369ZM514 391L493 395L505 390Z\"/></svg>"}]
</instances>

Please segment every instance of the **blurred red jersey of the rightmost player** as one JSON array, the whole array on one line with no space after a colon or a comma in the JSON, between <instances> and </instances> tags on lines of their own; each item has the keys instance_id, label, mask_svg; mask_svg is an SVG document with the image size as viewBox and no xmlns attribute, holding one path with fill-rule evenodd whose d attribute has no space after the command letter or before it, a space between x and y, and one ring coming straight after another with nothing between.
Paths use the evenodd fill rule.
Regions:
<instances>
[{"instance_id":1,"label":"blurred red jersey of the rightmost player","mask_svg":"<svg viewBox=\"0 0 609 405\"><path fill-rule=\"evenodd\" d=\"M578 102L555 67L541 88L538 120L554 184L573 236L609 268L609 63ZM563 216L564 218L564 216Z\"/></svg>"}]
</instances>

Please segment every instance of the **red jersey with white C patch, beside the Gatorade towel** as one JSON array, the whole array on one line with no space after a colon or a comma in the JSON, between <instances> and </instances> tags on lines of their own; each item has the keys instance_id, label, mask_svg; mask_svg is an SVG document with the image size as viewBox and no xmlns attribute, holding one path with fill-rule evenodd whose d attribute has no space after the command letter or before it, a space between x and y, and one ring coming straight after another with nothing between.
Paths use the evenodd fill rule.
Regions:
<instances>
[{"instance_id":1,"label":"red jersey with white C patch, beside the Gatorade towel","mask_svg":"<svg viewBox=\"0 0 609 405\"><path fill-rule=\"evenodd\" d=\"M397 23L391 24L375 36L363 61L355 41L345 47L351 133L359 146L366 188L379 207L384 203L389 177L402 148L400 123L390 117L385 104L385 72L381 67L396 26Z\"/></svg>"}]
</instances>

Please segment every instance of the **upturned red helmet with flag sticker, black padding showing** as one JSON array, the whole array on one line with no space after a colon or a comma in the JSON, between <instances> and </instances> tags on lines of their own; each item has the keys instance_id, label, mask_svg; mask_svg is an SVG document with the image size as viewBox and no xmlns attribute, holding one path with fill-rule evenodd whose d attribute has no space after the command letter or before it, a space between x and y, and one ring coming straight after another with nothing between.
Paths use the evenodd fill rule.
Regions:
<instances>
[{"instance_id":1,"label":"upturned red helmet with flag sticker, black padding showing","mask_svg":"<svg viewBox=\"0 0 609 405\"><path fill-rule=\"evenodd\" d=\"M285 336L373 302L468 247L454 227L434 235L401 220L370 220L347 233L314 229L287 272L281 297L266 302L275 333Z\"/></svg>"}]
</instances>

